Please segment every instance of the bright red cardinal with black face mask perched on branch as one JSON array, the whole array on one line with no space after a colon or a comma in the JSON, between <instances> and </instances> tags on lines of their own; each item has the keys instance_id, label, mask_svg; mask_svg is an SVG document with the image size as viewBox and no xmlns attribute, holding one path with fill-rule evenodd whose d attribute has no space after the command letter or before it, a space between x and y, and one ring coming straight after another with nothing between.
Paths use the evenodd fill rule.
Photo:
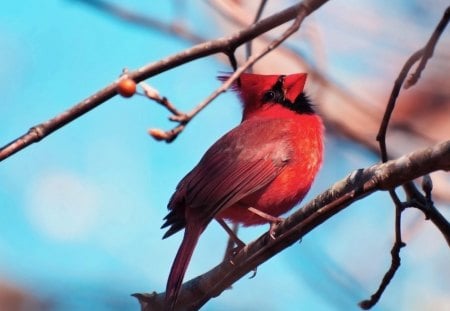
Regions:
<instances>
[{"instance_id":1,"label":"bright red cardinal with black face mask perched on branch","mask_svg":"<svg viewBox=\"0 0 450 311\"><path fill-rule=\"evenodd\" d=\"M225 80L227 77L219 77ZM243 73L233 88L242 122L214 143L172 195L163 238L184 237L165 304L174 309L197 241L213 220L270 223L299 203L322 163L323 125L303 93L305 73Z\"/></svg>"}]
</instances>

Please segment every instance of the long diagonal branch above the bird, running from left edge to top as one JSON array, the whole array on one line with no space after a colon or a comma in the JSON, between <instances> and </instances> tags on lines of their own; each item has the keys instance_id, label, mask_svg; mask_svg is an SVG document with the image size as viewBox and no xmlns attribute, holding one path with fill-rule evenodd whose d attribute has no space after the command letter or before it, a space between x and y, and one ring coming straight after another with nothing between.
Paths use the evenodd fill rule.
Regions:
<instances>
[{"instance_id":1,"label":"long diagonal branch above the bird, running from left edge to top","mask_svg":"<svg viewBox=\"0 0 450 311\"><path fill-rule=\"evenodd\" d=\"M135 82L141 82L152 76L183 65L195 59L199 59L216 53L227 54L230 50L235 50L245 42L256 38L257 36L292 19L297 18L298 12L301 7L304 8L306 15L309 15L325 2L327 2L327 0L304 0L296 5L293 5L283 11L280 11L263 19L255 23L254 25L251 25L237 33L234 33L231 36L195 45L190 49L168 56L157 62L145 65L137 70L129 71L127 72L127 75ZM79 102L60 115L39 125L33 126L27 133L15 139L6 146L0 148L0 161L3 161L16 152L28 147L29 145L40 141L41 139L52 134L66 124L82 116L83 114L98 107L108 99L114 97L115 95L117 95L117 83L118 80L112 82L102 90L89 96L85 100Z\"/></svg>"}]
</instances>

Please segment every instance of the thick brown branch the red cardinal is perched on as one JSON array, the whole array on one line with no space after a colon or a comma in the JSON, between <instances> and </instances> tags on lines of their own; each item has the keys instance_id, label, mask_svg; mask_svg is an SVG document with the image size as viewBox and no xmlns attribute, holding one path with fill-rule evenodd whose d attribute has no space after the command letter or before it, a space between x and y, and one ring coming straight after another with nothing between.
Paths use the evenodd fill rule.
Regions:
<instances>
[{"instance_id":1,"label":"thick brown branch the red cardinal is perched on","mask_svg":"<svg viewBox=\"0 0 450 311\"><path fill-rule=\"evenodd\" d=\"M233 258L233 264L224 261L209 272L186 282L180 292L180 305L186 309L200 308L351 203L375 191L392 189L437 170L450 170L450 141L353 172L280 223L276 228L275 240L267 232L242 249ZM446 239L450 237L448 222L439 230ZM160 310L164 295L154 293L135 296L140 300L142 310L146 311Z\"/></svg>"}]
</instances>

